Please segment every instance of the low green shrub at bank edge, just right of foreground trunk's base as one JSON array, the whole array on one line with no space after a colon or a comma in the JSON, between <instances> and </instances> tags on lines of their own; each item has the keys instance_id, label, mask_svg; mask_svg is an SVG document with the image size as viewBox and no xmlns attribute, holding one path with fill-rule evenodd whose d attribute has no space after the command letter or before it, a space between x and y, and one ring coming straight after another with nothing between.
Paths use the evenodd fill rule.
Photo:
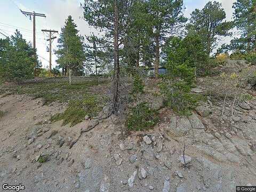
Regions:
<instances>
[{"instance_id":1,"label":"low green shrub at bank edge, just right of foreground trunk's base","mask_svg":"<svg viewBox=\"0 0 256 192\"><path fill-rule=\"evenodd\" d=\"M149 107L147 102L139 103L130 110L126 126L131 131L150 129L158 122L158 112Z\"/></svg>"}]
</instances>

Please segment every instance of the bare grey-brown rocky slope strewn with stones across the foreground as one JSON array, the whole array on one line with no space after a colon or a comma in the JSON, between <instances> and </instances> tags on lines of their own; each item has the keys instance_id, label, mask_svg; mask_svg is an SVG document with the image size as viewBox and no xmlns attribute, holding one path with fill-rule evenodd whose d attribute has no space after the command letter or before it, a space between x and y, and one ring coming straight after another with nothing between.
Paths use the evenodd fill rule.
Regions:
<instances>
[{"instance_id":1,"label":"bare grey-brown rocky slope strewn with stones across the foreground","mask_svg":"<svg viewBox=\"0 0 256 192\"><path fill-rule=\"evenodd\" d=\"M192 91L207 91L204 81L199 79ZM256 93L253 86L247 91ZM127 132L115 116L61 126L50 118L67 105L43 103L25 94L0 97L5 111L0 119L1 186L22 183L25 191L228 192L256 185L255 99L239 103L233 116L232 100L226 101L222 115L223 100L213 97L189 117L162 108L159 123L147 132Z\"/></svg>"}]
</instances>

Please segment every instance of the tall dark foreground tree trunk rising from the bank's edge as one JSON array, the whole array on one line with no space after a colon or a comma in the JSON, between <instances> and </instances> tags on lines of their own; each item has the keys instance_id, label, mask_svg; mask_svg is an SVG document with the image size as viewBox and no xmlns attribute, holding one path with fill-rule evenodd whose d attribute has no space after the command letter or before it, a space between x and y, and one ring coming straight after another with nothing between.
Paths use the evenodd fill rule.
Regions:
<instances>
[{"instance_id":1,"label":"tall dark foreground tree trunk rising from the bank's edge","mask_svg":"<svg viewBox=\"0 0 256 192\"><path fill-rule=\"evenodd\" d=\"M118 103L119 103L119 47L118 47L118 9L117 0L114 0L114 69L115 75L113 78L113 101L112 110L113 113L117 114Z\"/></svg>"}]
</instances>

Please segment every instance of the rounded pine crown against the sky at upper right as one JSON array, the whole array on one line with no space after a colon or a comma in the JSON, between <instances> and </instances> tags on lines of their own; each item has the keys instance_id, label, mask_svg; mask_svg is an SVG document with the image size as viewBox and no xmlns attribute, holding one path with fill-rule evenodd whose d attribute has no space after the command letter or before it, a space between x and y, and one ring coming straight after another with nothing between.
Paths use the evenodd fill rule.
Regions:
<instances>
[{"instance_id":1,"label":"rounded pine crown against the sky at upper right","mask_svg":"<svg viewBox=\"0 0 256 192\"><path fill-rule=\"evenodd\" d=\"M209 55L217 46L219 37L231 35L228 31L231 29L232 23L224 21L225 18L226 13L221 3L216 1L208 2L202 10L196 9L191 13L190 23L187 27L201 36Z\"/></svg>"}]
</instances>

